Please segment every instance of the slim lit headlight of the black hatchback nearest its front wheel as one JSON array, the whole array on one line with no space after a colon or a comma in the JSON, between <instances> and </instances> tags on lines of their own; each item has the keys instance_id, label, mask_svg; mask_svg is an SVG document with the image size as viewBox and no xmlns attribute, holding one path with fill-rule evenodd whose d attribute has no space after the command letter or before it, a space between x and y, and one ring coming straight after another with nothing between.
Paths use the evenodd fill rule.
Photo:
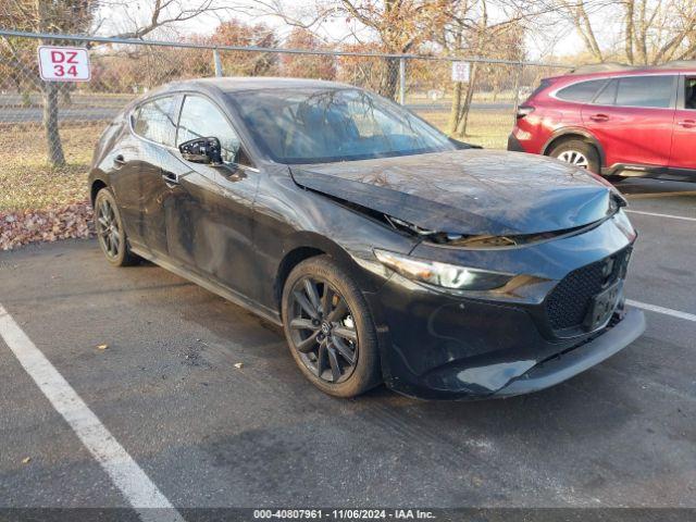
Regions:
<instances>
[{"instance_id":1,"label":"slim lit headlight of the black hatchback nearest its front wheel","mask_svg":"<svg viewBox=\"0 0 696 522\"><path fill-rule=\"evenodd\" d=\"M403 277L456 290L492 290L514 277L511 274L426 261L386 250L375 249L374 254L382 264Z\"/></svg>"}]
</instances>

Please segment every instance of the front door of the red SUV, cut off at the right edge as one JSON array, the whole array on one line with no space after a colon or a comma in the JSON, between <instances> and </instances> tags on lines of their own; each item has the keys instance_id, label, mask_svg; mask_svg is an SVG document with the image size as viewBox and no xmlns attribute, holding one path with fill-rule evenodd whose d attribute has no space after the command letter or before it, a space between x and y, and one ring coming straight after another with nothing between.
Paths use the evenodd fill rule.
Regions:
<instances>
[{"instance_id":1,"label":"front door of the red SUV, cut off at the right edge","mask_svg":"<svg viewBox=\"0 0 696 522\"><path fill-rule=\"evenodd\" d=\"M680 77L670 167L696 171L696 74Z\"/></svg>"}]
</instances>

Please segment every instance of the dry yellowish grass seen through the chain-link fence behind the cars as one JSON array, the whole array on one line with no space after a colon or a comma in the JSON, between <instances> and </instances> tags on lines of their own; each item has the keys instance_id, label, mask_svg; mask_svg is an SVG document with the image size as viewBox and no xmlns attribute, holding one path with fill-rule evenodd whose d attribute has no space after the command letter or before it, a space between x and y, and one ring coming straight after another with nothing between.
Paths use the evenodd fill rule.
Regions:
<instances>
[{"instance_id":1,"label":"dry yellowish grass seen through the chain-link fence behind the cars","mask_svg":"<svg viewBox=\"0 0 696 522\"><path fill-rule=\"evenodd\" d=\"M447 111L420 111L419 115L446 130ZM506 147L511 127L508 111L474 111L463 138L486 148ZM51 169L46 162L46 137L39 124L0 129L0 213L60 209L87 199L87 173L103 124L61 128L66 165Z\"/></svg>"}]
</instances>

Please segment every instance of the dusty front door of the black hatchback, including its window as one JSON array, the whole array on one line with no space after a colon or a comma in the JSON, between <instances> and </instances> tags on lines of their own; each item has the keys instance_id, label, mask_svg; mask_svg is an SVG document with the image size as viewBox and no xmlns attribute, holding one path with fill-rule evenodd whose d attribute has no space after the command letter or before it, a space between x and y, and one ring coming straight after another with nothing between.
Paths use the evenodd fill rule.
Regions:
<instances>
[{"instance_id":1,"label":"dusty front door of the black hatchback, including its window","mask_svg":"<svg viewBox=\"0 0 696 522\"><path fill-rule=\"evenodd\" d=\"M177 146L201 137L216 137L223 165L179 161L190 172L182 176L166 208L170 257L199 275L211 277L245 296L257 282L253 264L253 199L259 173L251 167L232 124L212 100L184 98Z\"/></svg>"}]
</instances>

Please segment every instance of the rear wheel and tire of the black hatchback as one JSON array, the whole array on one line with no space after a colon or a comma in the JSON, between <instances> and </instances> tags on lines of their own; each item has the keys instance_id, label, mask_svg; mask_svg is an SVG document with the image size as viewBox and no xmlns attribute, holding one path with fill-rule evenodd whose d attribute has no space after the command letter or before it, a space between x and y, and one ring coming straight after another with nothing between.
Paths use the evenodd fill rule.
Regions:
<instances>
[{"instance_id":1,"label":"rear wheel and tire of the black hatchback","mask_svg":"<svg viewBox=\"0 0 696 522\"><path fill-rule=\"evenodd\" d=\"M130 251L119 206L111 189L104 187L95 198L95 228L99 247L114 266L138 264L140 258Z\"/></svg>"}]
</instances>

